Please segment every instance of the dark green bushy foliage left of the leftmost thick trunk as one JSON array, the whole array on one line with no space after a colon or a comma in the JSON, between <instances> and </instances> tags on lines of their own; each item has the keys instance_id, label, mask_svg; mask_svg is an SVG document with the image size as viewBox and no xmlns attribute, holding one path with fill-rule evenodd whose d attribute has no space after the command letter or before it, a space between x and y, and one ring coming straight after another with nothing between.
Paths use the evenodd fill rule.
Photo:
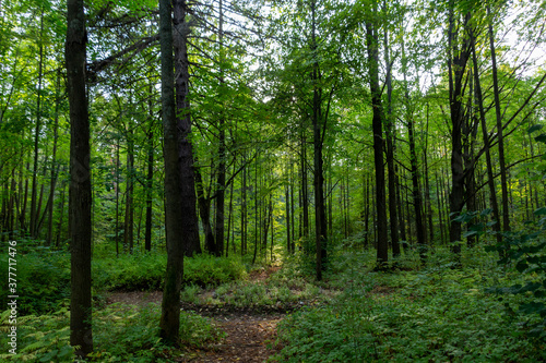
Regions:
<instances>
[{"instance_id":1,"label":"dark green bushy foliage left of the leftmost thick trunk","mask_svg":"<svg viewBox=\"0 0 546 363\"><path fill-rule=\"evenodd\" d=\"M8 249L5 249L8 251ZM8 276L8 254L0 256L0 271ZM20 291L19 315L44 314L60 308L70 297L70 256L48 249L16 255ZM0 303L8 303L8 283L0 285Z\"/></svg>"}]
</instances>

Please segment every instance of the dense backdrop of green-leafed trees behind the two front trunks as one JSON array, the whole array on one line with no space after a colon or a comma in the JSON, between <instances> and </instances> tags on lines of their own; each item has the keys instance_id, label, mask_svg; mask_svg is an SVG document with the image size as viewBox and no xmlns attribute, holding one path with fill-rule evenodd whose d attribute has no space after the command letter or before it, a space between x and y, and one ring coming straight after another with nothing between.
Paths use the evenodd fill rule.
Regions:
<instances>
[{"instance_id":1,"label":"dense backdrop of green-leafed trees behind the two front trunks","mask_svg":"<svg viewBox=\"0 0 546 363\"><path fill-rule=\"evenodd\" d=\"M145 281L105 270L164 258L171 216L189 257L177 297L180 283L225 282L204 273L222 264L229 280L292 258L321 281L351 251L375 251L375 271L403 268L404 256L424 268L440 251L442 269L458 269L485 246L523 279L497 292L531 299L515 304L544 339L544 1L173 5L178 145L168 145L157 3L86 1L90 152L75 161L71 140L83 129L69 111L67 3L0 1L2 268L16 241L20 281L36 292L20 300L21 314L73 299L31 282L74 258L78 222L90 226L93 289L163 287L165 259L150 263ZM71 217L82 167L88 222Z\"/></svg>"}]
</instances>

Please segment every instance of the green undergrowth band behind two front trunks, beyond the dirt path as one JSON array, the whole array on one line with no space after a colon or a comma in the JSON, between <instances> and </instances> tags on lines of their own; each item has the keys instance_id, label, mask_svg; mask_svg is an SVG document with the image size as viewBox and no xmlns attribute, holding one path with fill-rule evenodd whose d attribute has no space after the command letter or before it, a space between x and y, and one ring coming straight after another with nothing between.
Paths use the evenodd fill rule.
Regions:
<instances>
[{"instance_id":1,"label":"green undergrowth band behind two front trunks, beyond the dirt path","mask_svg":"<svg viewBox=\"0 0 546 363\"><path fill-rule=\"evenodd\" d=\"M23 249L22 249L23 250ZM48 314L70 299L70 254L35 247L16 255L17 314ZM93 297L104 301L107 291L153 291L163 288L167 264L165 253L95 254L92 262ZM0 271L8 276L8 254L0 256ZM183 283L214 287L247 276L238 257L198 255L185 258ZM8 283L0 283L0 304L7 306Z\"/></svg>"}]
</instances>

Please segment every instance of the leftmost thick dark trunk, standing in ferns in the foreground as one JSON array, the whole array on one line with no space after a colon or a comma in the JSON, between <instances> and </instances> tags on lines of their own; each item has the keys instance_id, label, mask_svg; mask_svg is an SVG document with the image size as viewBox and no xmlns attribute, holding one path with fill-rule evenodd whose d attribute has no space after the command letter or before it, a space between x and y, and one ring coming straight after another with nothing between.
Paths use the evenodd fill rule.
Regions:
<instances>
[{"instance_id":1,"label":"leftmost thick dark trunk, standing in ferns in the foreground","mask_svg":"<svg viewBox=\"0 0 546 363\"><path fill-rule=\"evenodd\" d=\"M68 0L66 62L70 105L70 344L84 358L93 351L91 299L90 120L85 92L87 34L83 0Z\"/></svg>"}]
</instances>

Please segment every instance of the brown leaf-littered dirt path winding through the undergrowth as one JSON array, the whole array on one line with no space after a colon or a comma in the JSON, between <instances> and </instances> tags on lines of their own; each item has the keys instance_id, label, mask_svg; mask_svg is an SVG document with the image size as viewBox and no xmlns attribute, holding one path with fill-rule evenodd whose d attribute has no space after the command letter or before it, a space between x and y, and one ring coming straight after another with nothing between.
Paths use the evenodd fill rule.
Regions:
<instances>
[{"instance_id":1,"label":"brown leaf-littered dirt path winding through the undergrowth","mask_svg":"<svg viewBox=\"0 0 546 363\"><path fill-rule=\"evenodd\" d=\"M270 266L268 269L250 274L251 282L263 282L280 269ZM211 294L211 291L203 294ZM144 306L149 303L162 302L162 291L111 292L108 303L123 303ZM285 311L273 308L237 307L226 308L214 305L182 303L182 310L192 310L214 319L218 328L225 332L216 344L203 350L186 352L178 362L266 362L281 347L275 346L276 325L285 316Z\"/></svg>"}]
</instances>

